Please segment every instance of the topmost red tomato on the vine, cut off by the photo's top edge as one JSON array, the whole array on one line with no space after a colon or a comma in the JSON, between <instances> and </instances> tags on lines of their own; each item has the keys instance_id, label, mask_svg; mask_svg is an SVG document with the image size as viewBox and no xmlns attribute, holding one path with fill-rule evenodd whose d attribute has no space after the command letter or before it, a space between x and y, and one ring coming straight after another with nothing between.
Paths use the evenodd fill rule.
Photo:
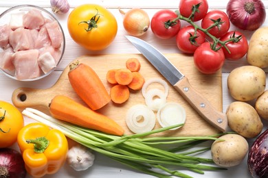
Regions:
<instances>
[{"instance_id":1,"label":"topmost red tomato on the vine, cut off by the photo's top edge","mask_svg":"<svg viewBox=\"0 0 268 178\"><path fill-rule=\"evenodd\" d=\"M193 5L199 4L198 12L195 12L192 21L200 21L205 14L208 12L208 1L207 0L181 0L179 2L179 12L182 16L189 17L192 14Z\"/></svg>"}]
</instances>

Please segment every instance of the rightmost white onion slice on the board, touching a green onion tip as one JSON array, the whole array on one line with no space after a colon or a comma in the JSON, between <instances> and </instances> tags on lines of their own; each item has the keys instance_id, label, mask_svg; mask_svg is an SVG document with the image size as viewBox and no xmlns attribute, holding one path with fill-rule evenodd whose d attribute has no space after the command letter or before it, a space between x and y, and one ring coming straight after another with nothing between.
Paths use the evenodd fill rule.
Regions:
<instances>
[{"instance_id":1,"label":"rightmost white onion slice on the board, touching a green onion tip","mask_svg":"<svg viewBox=\"0 0 268 178\"><path fill-rule=\"evenodd\" d=\"M166 103L157 112L157 120L161 127L186 122L186 111L179 103ZM171 130L179 129L179 127Z\"/></svg>"}]
</instances>

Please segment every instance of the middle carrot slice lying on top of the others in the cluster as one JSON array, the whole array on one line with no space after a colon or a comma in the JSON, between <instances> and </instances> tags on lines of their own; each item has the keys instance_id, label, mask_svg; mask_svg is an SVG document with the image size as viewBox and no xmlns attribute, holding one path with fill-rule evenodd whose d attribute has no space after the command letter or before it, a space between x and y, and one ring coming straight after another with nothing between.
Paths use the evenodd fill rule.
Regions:
<instances>
[{"instance_id":1,"label":"middle carrot slice lying on top of the others in the cluster","mask_svg":"<svg viewBox=\"0 0 268 178\"><path fill-rule=\"evenodd\" d=\"M115 72L115 80L120 85L129 85L133 79L131 71L128 68L120 68Z\"/></svg>"}]
</instances>

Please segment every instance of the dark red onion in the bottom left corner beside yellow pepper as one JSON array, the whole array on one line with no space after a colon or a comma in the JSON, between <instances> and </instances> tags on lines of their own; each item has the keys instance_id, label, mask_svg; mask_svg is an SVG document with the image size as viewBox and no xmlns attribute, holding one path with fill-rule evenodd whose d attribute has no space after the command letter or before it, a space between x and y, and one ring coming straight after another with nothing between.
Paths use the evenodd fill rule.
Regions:
<instances>
[{"instance_id":1,"label":"dark red onion in the bottom left corner beside yellow pepper","mask_svg":"<svg viewBox=\"0 0 268 178\"><path fill-rule=\"evenodd\" d=\"M23 157L14 149L0 149L0 177L24 178L26 177Z\"/></svg>"}]
</instances>

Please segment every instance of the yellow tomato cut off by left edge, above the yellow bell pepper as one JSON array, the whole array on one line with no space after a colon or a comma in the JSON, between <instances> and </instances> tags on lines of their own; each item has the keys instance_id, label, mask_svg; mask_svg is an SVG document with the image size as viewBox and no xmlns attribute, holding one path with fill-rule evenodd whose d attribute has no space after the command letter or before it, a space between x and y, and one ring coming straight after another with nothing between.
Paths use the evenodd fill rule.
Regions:
<instances>
[{"instance_id":1,"label":"yellow tomato cut off by left edge, above the yellow bell pepper","mask_svg":"<svg viewBox=\"0 0 268 178\"><path fill-rule=\"evenodd\" d=\"M14 144L23 125L21 112L14 105L0 101L0 148Z\"/></svg>"}]
</instances>

